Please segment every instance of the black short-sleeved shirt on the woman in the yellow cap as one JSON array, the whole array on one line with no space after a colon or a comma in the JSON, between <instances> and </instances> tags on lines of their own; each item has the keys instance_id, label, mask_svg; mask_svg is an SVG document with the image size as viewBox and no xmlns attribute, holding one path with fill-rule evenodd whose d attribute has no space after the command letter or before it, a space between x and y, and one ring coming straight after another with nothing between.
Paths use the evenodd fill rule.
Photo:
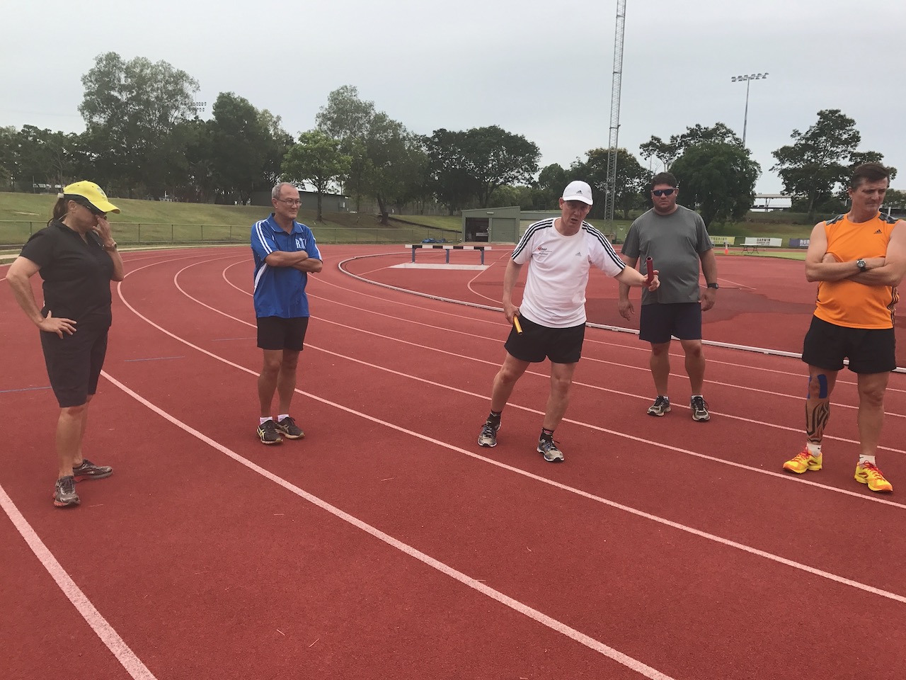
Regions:
<instances>
[{"instance_id":1,"label":"black short-sleeved shirt on the woman in the yellow cap","mask_svg":"<svg viewBox=\"0 0 906 680\"><path fill-rule=\"evenodd\" d=\"M54 220L34 232L20 254L41 267L44 316L49 310L73 321L110 325L113 260L93 231L86 237L87 243L78 231Z\"/></svg>"}]
</instances>

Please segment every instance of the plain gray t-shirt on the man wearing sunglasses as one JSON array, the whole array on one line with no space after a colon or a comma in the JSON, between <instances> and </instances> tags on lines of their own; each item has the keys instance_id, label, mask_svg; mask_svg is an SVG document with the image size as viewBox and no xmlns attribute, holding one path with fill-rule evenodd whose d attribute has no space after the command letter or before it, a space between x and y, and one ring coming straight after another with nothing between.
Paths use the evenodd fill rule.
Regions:
<instances>
[{"instance_id":1,"label":"plain gray t-shirt on the man wearing sunglasses","mask_svg":"<svg viewBox=\"0 0 906 680\"><path fill-rule=\"evenodd\" d=\"M641 304L699 302L699 259L713 248L705 220L695 210L677 206L670 215L654 209L640 215L629 228L622 254L641 257L641 273L646 274L645 258L651 257L658 270L660 287L654 293L642 288Z\"/></svg>"}]
</instances>

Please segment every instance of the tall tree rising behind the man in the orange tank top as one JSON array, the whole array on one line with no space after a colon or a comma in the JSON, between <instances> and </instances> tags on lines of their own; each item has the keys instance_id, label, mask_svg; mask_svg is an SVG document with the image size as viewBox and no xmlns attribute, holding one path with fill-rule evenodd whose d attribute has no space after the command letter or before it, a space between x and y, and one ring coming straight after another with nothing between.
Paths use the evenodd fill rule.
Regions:
<instances>
[{"instance_id":1,"label":"tall tree rising behind the man in the orange tank top","mask_svg":"<svg viewBox=\"0 0 906 680\"><path fill-rule=\"evenodd\" d=\"M805 199L809 219L822 203L834 197L834 189L845 187L854 160L881 160L880 153L855 151L862 136L855 121L839 109L818 112L818 121L805 132L794 130L792 144L773 152L776 171L786 193Z\"/></svg>"}]
</instances>

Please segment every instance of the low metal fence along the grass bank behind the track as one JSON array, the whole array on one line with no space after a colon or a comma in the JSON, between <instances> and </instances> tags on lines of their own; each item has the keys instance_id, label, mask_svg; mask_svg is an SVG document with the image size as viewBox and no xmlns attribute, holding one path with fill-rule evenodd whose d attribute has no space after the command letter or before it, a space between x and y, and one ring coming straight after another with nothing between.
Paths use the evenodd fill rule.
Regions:
<instances>
[{"instance_id":1,"label":"low metal fence along the grass bank behind the track","mask_svg":"<svg viewBox=\"0 0 906 680\"><path fill-rule=\"evenodd\" d=\"M0 220L0 248L21 247L46 222ZM113 222L113 236L121 245L153 246L193 243L248 243L250 225L130 224ZM425 238L445 238L458 243L458 231L437 227L312 227L318 243L411 243Z\"/></svg>"}]
</instances>

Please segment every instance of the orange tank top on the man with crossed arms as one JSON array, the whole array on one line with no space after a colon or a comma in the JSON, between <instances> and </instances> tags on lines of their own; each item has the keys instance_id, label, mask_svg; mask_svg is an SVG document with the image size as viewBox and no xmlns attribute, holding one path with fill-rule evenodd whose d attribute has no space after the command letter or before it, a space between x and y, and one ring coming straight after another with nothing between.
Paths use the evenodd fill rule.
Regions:
<instances>
[{"instance_id":1,"label":"orange tank top on the man with crossed arms","mask_svg":"<svg viewBox=\"0 0 906 680\"><path fill-rule=\"evenodd\" d=\"M898 221L878 213L867 222L854 223L847 215L838 215L824 222L827 252L840 262L885 257ZM850 328L892 328L893 310L899 299L896 287L865 286L848 278L819 281L814 316Z\"/></svg>"}]
</instances>

